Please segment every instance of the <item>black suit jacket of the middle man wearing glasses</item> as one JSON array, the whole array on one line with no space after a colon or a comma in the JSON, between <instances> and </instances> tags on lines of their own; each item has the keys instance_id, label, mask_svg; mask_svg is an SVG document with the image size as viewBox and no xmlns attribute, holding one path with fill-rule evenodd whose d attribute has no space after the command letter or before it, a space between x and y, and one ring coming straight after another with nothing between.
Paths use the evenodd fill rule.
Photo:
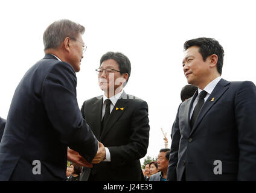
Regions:
<instances>
[{"instance_id":1,"label":"black suit jacket of the middle man wearing glasses","mask_svg":"<svg viewBox=\"0 0 256 193\"><path fill-rule=\"evenodd\" d=\"M90 178L115 181L143 179L139 159L146 155L149 145L148 107L146 101L133 98L135 96L123 92L101 135L103 96L83 103L83 118L92 128L96 138L109 148L111 157L111 162L95 164L91 169ZM124 110L116 110L116 107L123 107Z\"/></svg>"}]
</instances>

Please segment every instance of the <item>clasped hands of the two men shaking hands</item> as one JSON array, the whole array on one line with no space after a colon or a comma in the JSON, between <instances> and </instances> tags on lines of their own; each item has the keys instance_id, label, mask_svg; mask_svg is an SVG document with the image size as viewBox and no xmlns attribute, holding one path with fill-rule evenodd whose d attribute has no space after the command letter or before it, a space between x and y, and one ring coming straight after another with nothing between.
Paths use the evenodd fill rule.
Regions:
<instances>
[{"instance_id":1,"label":"clasped hands of the two men shaking hands","mask_svg":"<svg viewBox=\"0 0 256 193\"><path fill-rule=\"evenodd\" d=\"M68 147L68 160L77 163L80 166L84 166L86 168L92 168L92 164L100 163L102 160L106 159L106 150L103 144L98 141L98 151L95 155L94 159L91 163L89 163L84 157L80 156L80 154L77 151L71 150L71 148Z\"/></svg>"}]
</instances>

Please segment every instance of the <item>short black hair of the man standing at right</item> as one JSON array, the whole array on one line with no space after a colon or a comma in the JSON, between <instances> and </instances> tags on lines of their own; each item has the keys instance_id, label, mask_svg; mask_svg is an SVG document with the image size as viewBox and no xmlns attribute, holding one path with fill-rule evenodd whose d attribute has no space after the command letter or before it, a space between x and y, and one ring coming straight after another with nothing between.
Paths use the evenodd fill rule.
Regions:
<instances>
[{"instance_id":1,"label":"short black hair of the man standing at right","mask_svg":"<svg viewBox=\"0 0 256 193\"><path fill-rule=\"evenodd\" d=\"M205 61L208 56L216 54L218 56L217 71L220 75L222 75L224 49L216 39L199 37L196 39L187 40L184 43L184 50L186 51L191 46L199 47L199 53L202 55L203 61Z\"/></svg>"}]
</instances>

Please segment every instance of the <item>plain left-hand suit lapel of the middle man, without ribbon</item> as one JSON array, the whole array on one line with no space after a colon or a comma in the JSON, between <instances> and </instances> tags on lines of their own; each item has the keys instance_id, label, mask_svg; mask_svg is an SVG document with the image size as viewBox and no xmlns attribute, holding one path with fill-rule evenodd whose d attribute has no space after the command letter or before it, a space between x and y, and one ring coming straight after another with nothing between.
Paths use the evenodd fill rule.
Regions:
<instances>
[{"instance_id":1,"label":"plain left-hand suit lapel of the middle man, without ribbon","mask_svg":"<svg viewBox=\"0 0 256 193\"><path fill-rule=\"evenodd\" d=\"M91 109L92 120L94 120L92 124L94 124L94 128L95 128L93 132L97 139L100 139L102 105L103 105L103 96L101 96L101 98L95 101Z\"/></svg>"}]
</instances>

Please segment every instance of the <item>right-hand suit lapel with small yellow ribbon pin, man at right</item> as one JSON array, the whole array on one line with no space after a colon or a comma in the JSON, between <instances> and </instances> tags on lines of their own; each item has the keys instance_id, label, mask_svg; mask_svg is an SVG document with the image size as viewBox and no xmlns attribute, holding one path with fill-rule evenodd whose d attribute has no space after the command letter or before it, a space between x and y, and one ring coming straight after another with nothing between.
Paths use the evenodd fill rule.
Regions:
<instances>
[{"instance_id":1,"label":"right-hand suit lapel with small yellow ribbon pin, man at right","mask_svg":"<svg viewBox=\"0 0 256 193\"><path fill-rule=\"evenodd\" d=\"M196 130L197 126L200 124L200 122L202 121L202 119L206 115L206 113L211 109L211 107L213 107L214 104L217 103L217 101L220 99L220 97L223 95L223 93L225 93L225 91L228 89L229 83L230 83L229 81L221 79L219 81L219 83L216 85L216 87L213 89L213 92L207 98L207 100L205 101L205 104L203 104L203 107L200 110L200 113L197 117L194 127L192 128L190 136L194 132L194 130Z\"/></svg>"}]
</instances>

